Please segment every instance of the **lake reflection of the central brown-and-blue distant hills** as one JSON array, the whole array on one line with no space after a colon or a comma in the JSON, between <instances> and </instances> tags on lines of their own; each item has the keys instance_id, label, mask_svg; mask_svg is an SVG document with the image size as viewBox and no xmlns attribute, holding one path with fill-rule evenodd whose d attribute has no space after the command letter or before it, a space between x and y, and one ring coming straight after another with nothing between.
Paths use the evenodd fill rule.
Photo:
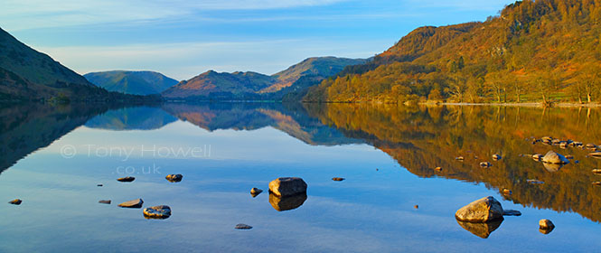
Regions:
<instances>
[{"instance_id":1,"label":"lake reflection of the central brown-and-blue distant hills","mask_svg":"<svg viewBox=\"0 0 601 253\"><path fill-rule=\"evenodd\" d=\"M271 126L310 145L360 143L308 117L305 109L279 103L165 104L163 109L203 129L253 130Z\"/></svg>"}]
</instances>

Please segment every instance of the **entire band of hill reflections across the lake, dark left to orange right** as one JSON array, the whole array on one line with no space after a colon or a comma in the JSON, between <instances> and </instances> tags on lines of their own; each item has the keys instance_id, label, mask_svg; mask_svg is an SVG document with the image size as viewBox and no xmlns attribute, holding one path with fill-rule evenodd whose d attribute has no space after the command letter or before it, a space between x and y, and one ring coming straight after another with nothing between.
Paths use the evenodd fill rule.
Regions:
<instances>
[{"instance_id":1,"label":"entire band of hill reflections across the lake, dark left to orange right","mask_svg":"<svg viewBox=\"0 0 601 253\"><path fill-rule=\"evenodd\" d=\"M601 168L601 160L587 157L586 149L532 145L531 141L531 136L553 136L599 144L598 109L278 103L164 104L160 108L108 109L82 105L0 108L0 172L84 124L111 130L148 130L179 119L209 131L273 127L309 145L367 143L420 177L484 183L499 192L512 190L504 198L523 206L575 211L589 220L601 220L598 212L601 191L592 185L600 178L591 172ZM573 155L573 161L579 163L549 167L530 157L551 149ZM494 154L502 155L502 160L493 161ZM455 160L457 156L465 160ZM482 168L481 162L493 166ZM438 172L434 170L436 167L443 170ZM529 183L530 179L544 183ZM276 210L284 211L302 205L305 199L288 201L270 197L269 201ZM486 237L495 228L469 230Z\"/></svg>"}]
</instances>

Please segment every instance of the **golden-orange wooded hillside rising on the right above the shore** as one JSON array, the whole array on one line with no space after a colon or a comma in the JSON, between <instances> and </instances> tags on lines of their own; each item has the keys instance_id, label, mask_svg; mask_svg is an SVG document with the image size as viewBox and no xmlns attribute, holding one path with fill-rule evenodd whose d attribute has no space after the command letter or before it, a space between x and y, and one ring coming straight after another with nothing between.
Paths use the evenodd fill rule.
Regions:
<instances>
[{"instance_id":1,"label":"golden-orange wooded hillside rising on the right above the shore","mask_svg":"<svg viewBox=\"0 0 601 253\"><path fill-rule=\"evenodd\" d=\"M519 1L482 23L420 27L304 99L591 102L601 97L599 33L598 1Z\"/></svg>"}]
</instances>

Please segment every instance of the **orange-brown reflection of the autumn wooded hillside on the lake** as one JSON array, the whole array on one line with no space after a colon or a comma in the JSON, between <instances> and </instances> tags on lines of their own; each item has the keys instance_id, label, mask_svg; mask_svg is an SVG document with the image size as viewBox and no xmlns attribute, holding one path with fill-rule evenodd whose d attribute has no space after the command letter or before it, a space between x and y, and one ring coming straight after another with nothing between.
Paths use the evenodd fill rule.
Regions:
<instances>
[{"instance_id":1,"label":"orange-brown reflection of the autumn wooded hillside on the lake","mask_svg":"<svg viewBox=\"0 0 601 253\"><path fill-rule=\"evenodd\" d=\"M524 206L576 211L590 220L601 221L601 191L591 185L599 181L591 169L601 160L586 157L587 151L568 147L531 145L530 136L555 136L599 144L599 111L578 108L406 108L334 104L325 108L308 105L312 116L325 125L338 127L349 137L362 138L380 148L411 173L422 177L443 176L465 182L484 183L502 191ZM542 164L521 154L545 154L554 149L574 155L579 164L568 164L549 173ZM502 154L499 162L490 158ZM464 162L455 156L465 156ZM479 157L476 159L475 157ZM493 167L480 168L489 161ZM432 168L441 166L443 171ZM544 184L527 183L538 179Z\"/></svg>"}]
</instances>

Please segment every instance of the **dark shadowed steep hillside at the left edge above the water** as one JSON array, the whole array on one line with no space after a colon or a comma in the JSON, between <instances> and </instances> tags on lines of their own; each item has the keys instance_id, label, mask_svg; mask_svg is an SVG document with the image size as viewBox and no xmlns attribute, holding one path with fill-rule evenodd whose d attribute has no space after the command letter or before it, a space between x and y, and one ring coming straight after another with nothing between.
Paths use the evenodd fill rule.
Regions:
<instances>
[{"instance_id":1,"label":"dark shadowed steep hillside at the left edge above the water","mask_svg":"<svg viewBox=\"0 0 601 253\"><path fill-rule=\"evenodd\" d=\"M0 29L0 101L146 99L100 89Z\"/></svg>"}]
</instances>

